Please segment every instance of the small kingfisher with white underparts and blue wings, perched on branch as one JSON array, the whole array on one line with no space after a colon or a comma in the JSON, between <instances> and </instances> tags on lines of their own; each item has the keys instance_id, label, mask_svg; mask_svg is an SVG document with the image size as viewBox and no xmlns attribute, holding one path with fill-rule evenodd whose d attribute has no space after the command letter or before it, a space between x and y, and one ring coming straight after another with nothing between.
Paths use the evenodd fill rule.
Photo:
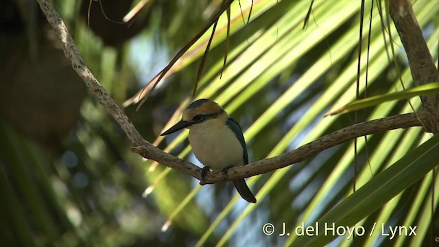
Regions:
<instances>
[{"instance_id":1,"label":"small kingfisher with white underparts and blue wings, perched on branch","mask_svg":"<svg viewBox=\"0 0 439 247\"><path fill-rule=\"evenodd\" d=\"M182 119L161 136L182 128L189 129L189 143L193 154L203 165L203 174L209 169L227 174L230 167L248 164L246 141L238 122L210 99L198 99L183 111ZM233 180L239 195L255 203L252 191L244 178Z\"/></svg>"}]
</instances>

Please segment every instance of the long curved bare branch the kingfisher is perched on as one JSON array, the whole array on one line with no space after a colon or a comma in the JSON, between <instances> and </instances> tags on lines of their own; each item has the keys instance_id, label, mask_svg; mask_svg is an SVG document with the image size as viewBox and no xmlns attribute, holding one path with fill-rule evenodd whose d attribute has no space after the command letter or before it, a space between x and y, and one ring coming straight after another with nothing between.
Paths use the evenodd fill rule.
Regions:
<instances>
[{"instance_id":1,"label":"long curved bare branch the kingfisher is perched on","mask_svg":"<svg viewBox=\"0 0 439 247\"><path fill-rule=\"evenodd\" d=\"M71 63L71 66L76 73L80 75L82 80L84 80L86 86L88 86L95 97L97 97L99 103L104 106L108 114L110 114L115 121L117 121L117 124L121 126L123 132L125 132L126 136L133 145L132 150L138 154L141 154L141 156L145 158L150 158L154 161L162 163L163 165L167 165L168 167L179 169L180 171L185 172L190 176L197 178L198 180L201 180L200 167L163 152L141 137L136 128L134 128L134 125L131 123L130 119L128 119L127 115L123 113L121 108L119 108L115 101L108 95L108 93L106 93L104 87L99 84L91 71L88 70L84 60L78 52L78 49L75 47L75 43L73 42L67 27L64 25L64 22L56 10L54 10L50 1L37 1L40 4L41 10L43 10L45 16L47 17L47 21L49 21L51 27L55 30L58 38L60 39L64 49L64 54ZM324 137L320 137L315 141L311 141L306 145L302 145L300 148L292 152L257 161L250 165L231 168L228 170L228 178L226 180L235 180L237 178L250 177L263 174L265 172L271 172L275 169L283 168L288 165L303 161L306 158L318 154L318 152L321 152L322 150L326 150L327 148L331 148L355 137L361 137L386 130L393 130L396 128L421 126L420 123L425 121L428 116L429 115L427 113L419 113L418 115L415 113L409 113L385 117L383 119L365 121L353 126L348 126L346 128L342 128L341 130L332 132L331 134L327 134ZM206 180L200 184L217 183L220 181L224 181L222 173L211 172L207 174Z\"/></svg>"}]
</instances>

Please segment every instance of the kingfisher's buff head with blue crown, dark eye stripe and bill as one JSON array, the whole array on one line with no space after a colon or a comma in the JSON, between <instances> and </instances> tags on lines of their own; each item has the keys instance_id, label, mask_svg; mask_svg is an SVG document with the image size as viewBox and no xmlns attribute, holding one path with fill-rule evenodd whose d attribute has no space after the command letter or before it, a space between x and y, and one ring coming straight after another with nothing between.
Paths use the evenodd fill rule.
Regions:
<instances>
[{"instance_id":1,"label":"kingfisher's buff head with blue crown, dark eye stripe and bill","mask_svg":"<svg viewBox=\"0 0 439 247\"><path fill-rule=\"evenodd\" d=\"M216 102L210 99L198 99L189 104L183 111L181 121L163 132L161 136L174 133L182 128L191 129L194 126L206 125L213 121L225 123L227 117L227 113Z\"/></svg>"}]
</instances>

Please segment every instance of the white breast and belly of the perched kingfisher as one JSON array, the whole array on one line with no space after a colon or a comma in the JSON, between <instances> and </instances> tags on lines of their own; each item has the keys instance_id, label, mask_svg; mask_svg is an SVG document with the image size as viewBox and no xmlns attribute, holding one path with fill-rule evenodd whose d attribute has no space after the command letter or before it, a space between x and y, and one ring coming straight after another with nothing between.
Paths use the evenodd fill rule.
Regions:
<instances>
[{"instance_id":1,"label":"white breast and belly of the perched kingfisher","mask_svg":"<svg viewBox=\"0 0 439 247\"><path fill-rule=\"evenodd\" d=\"M241 143L233 131L217 119L191 126L189 142L195 157L213 171L244 164Z\"/></svg>"}]
</instances>

